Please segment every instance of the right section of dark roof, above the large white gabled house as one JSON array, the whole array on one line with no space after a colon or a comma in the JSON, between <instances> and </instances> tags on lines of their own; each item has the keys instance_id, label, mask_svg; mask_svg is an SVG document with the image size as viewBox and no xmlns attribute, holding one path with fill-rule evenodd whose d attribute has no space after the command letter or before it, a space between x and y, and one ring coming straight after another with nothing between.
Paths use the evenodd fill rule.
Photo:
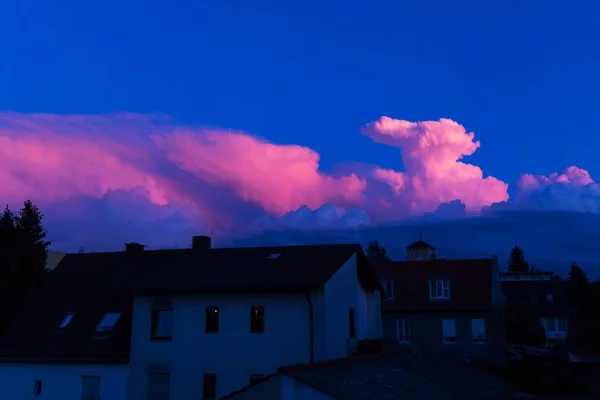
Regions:
<instances>
[{"instance_id":1,"label":"right section of dark roof, above the large white gabled house","mask_svg":"<svg viewBox=\"0 0 600 400\"><path fill-rule=\"evenodd\" d=\"M275 258L269 256L279 254ZM149 273L139 294L305 292L322 287L352 255L369 289L379 280L358 244L198 250Z\"/></svg>"}]
</instances>

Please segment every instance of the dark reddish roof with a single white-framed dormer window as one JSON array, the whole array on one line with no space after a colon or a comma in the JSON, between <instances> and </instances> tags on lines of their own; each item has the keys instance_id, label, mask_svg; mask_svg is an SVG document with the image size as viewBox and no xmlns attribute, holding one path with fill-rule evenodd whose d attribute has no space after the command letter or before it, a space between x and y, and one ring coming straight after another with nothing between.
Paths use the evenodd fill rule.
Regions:
<instances>
[{"instance_id":1,"label":"dark reddish roof with a single white-framed dormer window","mask_svg":"<svg viewBox=\"0 0 600 400\"><path fill-rule=\"evenodd\" d=\"M384 311L477 311L492 307L492 258L405 261L375 265L381 280L394 281L394 299ZM451 299L431 301L429 281L448 279Z\"/></svg>"}]
</instances>

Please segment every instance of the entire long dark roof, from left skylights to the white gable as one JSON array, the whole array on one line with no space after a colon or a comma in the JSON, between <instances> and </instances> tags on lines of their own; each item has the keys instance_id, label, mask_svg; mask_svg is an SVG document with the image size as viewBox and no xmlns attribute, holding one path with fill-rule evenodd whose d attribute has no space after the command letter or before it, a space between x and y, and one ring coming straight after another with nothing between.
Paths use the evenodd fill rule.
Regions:
<instances>
[{"instance_id":1,"label":"entire long dark roof, from left skylights to the white gable","mask_svg":"<svg viewBox=\"0 0 600 400\"><path fill-rule=\"evenodd\" d=\"M359 280L381 289L359 245L68 254L0 337L0 361L126 363L135 293L310 290L354 254ZM111 311L122 313L112 335L96 338ZM67 313L75 316L59 332Z\"/></svg>"}]
</instances>

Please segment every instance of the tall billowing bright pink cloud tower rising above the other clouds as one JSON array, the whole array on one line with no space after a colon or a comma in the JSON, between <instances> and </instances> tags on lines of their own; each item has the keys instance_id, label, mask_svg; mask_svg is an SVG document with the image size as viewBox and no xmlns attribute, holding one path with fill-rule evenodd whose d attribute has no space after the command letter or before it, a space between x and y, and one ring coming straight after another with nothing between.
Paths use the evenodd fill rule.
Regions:
<instances>
[{"instance_id":1,"label":"tall billowing bright pink cloud tower rising above the other clouds","mask_svg":"<svg viewBox=\"0 0 600 400\"><path fill-rule=\"evenodd\" d=\"M474 134L449 119L409 122L382 117L366 125L363 134L378 143L398 147L404 172L375 168L375 176L388 183L409 214L434 211L440 204L460 200L466 210L508 200L508 184L488 176L481 168L459 161L472 155L480 143Z\"/></svg>"}]
</instances>

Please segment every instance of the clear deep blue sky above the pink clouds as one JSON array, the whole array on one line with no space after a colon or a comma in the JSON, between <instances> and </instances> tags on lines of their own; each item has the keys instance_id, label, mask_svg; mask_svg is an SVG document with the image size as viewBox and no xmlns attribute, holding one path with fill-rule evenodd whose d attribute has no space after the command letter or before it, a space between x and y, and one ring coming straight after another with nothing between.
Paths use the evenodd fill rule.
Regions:
<instances>
[{"instance_id":1,"label":"clear deep blue sky above the pink clouds","mask_svg":"<svg viewBox=\"0 0 600 400\"><path fill-rule=\"evenodd\" d=\"M360 126L448 117L481 140L486 174L600 174L594 1L21 0L0 15L0 109L164 112L307 145L324 168L396 168Z\"/></svg>"}]
</instances>

